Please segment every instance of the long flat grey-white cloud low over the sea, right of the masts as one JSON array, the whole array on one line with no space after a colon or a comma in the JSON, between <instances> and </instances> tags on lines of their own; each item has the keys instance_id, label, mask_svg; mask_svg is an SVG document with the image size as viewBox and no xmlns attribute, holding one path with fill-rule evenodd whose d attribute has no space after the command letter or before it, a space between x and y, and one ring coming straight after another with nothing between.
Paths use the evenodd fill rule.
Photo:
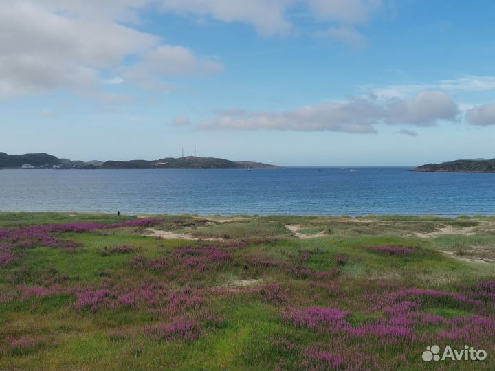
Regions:
<instances>
[{"instance_id":1,"label":"long flat grey-white cloud low over the sea, right of the masts","mask_svg":"<svg viewBox=\"0 0 495 371\"><path fill-rule=\"evenodd\" d=\"M459 110L449 95L424 91L415 98L380 102L359 98L347 102L325 102L292 111L217 111L201 123L205 129L293 130L375 133L375 124L432 126L438 120L454 120Z\"/></svg>"}]
</instances>

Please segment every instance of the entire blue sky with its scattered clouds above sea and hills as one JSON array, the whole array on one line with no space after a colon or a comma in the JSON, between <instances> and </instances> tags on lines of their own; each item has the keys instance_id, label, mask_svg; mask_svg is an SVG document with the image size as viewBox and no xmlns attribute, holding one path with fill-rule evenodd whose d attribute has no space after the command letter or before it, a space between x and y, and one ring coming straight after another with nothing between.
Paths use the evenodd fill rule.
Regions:
<instances>
[{"instance_id":1,"label":"entire blue sky with its scattered clouds above sea and hills","mask_svg":"<svg viewBox=\"0 0 495 371\"><path fill-rule=\"evenodd\" d=\"M495 157L493 1L2 0L0 150Z\"/></svg>"}]
</instances>

